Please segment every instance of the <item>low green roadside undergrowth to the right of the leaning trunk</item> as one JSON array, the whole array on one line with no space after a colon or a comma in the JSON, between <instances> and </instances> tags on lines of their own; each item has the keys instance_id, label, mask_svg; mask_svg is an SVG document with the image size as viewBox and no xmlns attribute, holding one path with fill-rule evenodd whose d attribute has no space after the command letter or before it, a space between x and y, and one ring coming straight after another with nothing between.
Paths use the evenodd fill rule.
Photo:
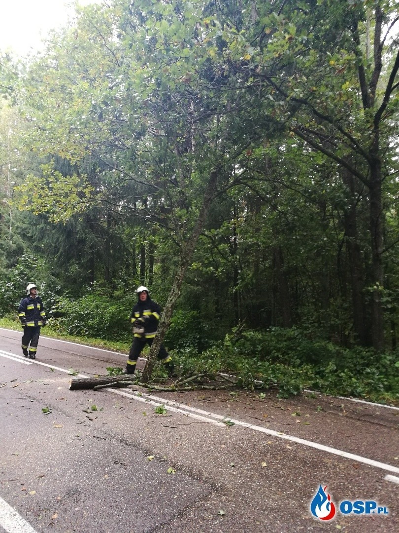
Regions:
<instances>
[{"instance_id":1,"label":"low green roadside undergrowth to the right of the leaning trunk","mask_svg":"<svg viewBox=\"0 0 399 533\"><path fill-rule=\"evenodd\" d=\"M186 372L225 372L246 389L277 386L279 395L305 388L371 400L399 400L399 353L343 349L325 340L309 340L298 329L235 330L218 345L180 354Z\"/></svg>"}]
</instances>

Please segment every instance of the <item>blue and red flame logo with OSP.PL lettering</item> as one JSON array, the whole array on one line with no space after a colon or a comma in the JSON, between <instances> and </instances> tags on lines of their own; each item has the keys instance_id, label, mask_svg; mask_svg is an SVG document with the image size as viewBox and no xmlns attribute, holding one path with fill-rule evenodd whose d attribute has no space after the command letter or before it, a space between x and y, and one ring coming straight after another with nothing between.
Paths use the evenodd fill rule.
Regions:
<instances>
[{"instance_id":1,"label":"blue and red flame logo with OSP.PL lettering","mask_svg":"<svg viewBox=\"0 0 399 533\"><path fill-rule=\"evenodd\" d=\"M331 500L331 496L326 491L327 485L315 493L311 503L310 511L319 520L331 520L336 514L336 508ZM379 505L375 500L343 500L339 503L341 514L389 514L388 507Z\"/></svg>"}]
</instances>

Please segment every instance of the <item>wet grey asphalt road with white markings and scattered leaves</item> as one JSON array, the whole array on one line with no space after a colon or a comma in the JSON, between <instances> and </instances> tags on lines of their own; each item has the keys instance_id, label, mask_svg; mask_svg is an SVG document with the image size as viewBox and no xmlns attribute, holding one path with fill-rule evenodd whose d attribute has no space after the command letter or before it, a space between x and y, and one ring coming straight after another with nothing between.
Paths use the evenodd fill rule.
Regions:
<instances>
[{"instance_id":1,"label":"wet grey asphalt road with white markings and scattered leaves","mask_svg":"<svg viewBox=\"0 0 399 533\"><path fill-rule=\"evenodd\" d=\"M399 531L399 409L311 393L70 391L69 369L105 375L126 356L41 336L30 361L21 336L0 329L0 532ZM331 520L311 512L320 485ZM344 514L355 500L377 507Z\"/></svg>"}]
</instances>

